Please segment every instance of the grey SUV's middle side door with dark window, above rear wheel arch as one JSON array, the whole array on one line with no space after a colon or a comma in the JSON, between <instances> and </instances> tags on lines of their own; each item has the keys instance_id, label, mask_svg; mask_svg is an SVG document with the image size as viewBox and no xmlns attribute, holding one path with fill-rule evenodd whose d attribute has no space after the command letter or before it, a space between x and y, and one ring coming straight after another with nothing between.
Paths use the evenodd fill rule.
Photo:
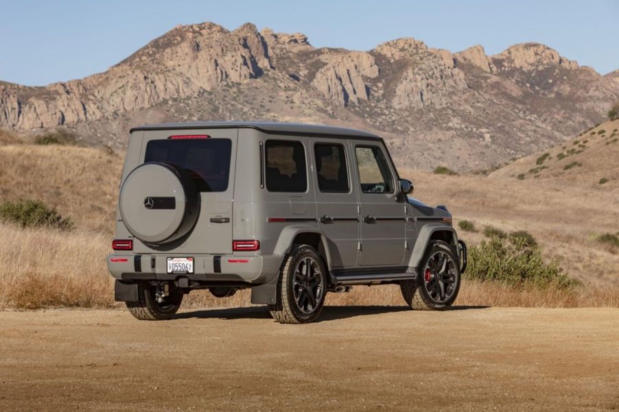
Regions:
<instances>
[{"instance_id":1,"label":"grey SUV's middle side door with dark window, above rear wheel arch","mask_svg":"<svg viewBox=\"0 0 619 412\"><path fill-rule=\"evenodd\" d=\"M359 202L351 154L342 139L312 139L318 227L327 237L331 266L354 267L358 258Z\"/></svg>"}]
</instances>

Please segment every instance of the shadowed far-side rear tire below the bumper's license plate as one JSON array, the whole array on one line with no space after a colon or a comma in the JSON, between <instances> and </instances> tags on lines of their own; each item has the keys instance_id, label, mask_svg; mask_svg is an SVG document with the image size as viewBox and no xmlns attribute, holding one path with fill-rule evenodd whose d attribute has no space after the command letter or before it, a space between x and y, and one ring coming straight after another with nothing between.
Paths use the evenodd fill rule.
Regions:
<instances>
[{"instance_id":1,"label":"shadowed far-side rear tire below the bumper's license plate","mask_svg":"<svg viewBox=\"0 0 619 412\"><path fill-rule=\"evenodd\" d=\"M176 314L183 302L183 293L170 292L165 302L158 303L154 288L140 282L138 284L138 302L125 302L131 315L139 320L165 320Z\"/></svg>"}]
</instances>

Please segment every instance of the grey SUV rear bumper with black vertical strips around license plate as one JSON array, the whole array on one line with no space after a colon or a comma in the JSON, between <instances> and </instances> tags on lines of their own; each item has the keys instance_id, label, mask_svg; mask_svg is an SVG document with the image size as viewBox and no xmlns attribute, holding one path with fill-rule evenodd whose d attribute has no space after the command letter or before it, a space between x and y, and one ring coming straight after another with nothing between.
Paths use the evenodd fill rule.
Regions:
<instances>
[{"instance_id":1,"label":"grey SUV rear bumper with black vertical strips around license plate","mask_svg":"<svg viewBox=\"0 0 619 412\"><path fill-rule=\"evenodd\" d=\"M277 255L193 255L194 274L168 274L167 258L178 254L110 254L106 258L110 275L119 280L176 280L197 282L247 282L261 284L275 276L283 256Z\"/></svg>"}]
</instances>

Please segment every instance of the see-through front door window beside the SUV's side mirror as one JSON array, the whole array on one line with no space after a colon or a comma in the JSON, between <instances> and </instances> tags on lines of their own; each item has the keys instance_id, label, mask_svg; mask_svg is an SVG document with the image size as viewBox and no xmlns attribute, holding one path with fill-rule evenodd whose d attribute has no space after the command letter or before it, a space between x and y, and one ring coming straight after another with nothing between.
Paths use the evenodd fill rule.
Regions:
<instances>
[{"instance_id":1,"label":"see-through front door window beside the SUV's side mirror","mask_svg":"<svg viewBox=\"0 0 619 412\"><path fill-rule=\"evenodd\" d=\"M357 166L364 193L393 193L393 179L379 147L357 146Z\"/></svg>"}]
</instances>

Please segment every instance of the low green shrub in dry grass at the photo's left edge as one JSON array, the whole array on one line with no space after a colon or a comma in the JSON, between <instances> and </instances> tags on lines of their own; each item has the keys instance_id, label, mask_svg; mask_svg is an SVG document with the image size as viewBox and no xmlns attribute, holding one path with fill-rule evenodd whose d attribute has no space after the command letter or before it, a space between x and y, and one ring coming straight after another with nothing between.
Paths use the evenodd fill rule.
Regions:
<instances>
[{"instance_id":1,"label":"low green shrub in dry grass at the photo's left edge","mask_svg":"<svg viewBox=\"0 0 619 412\"><path fill-rule=\"evenodd\" d=\"M0 204L0 219L19 224L22 228L49 226L60 230L73 229L73 221L63 218L55 208L40 200L19 199Z\"/></svg>"}]
</instances>

